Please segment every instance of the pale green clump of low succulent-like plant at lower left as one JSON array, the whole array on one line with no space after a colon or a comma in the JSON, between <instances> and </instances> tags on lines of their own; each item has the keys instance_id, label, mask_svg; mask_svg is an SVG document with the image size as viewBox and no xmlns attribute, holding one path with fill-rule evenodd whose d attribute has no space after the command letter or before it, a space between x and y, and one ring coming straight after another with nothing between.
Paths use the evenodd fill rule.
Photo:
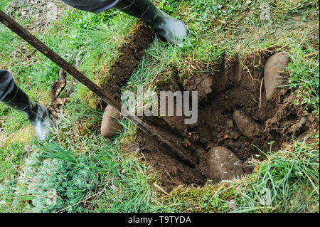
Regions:
<instances>
[{"instance_id":1,"label":"pale green clump of low succulent-like plant at lower left","mask_svg":"<svg viewBox=\"0 0 320 227\"><path fill-rule=\"evenodd\" d=\"M50 149L63 149L49 144ZM67 154L67 153L65 153ZM98 184L95 170L88 168L84 157L62 159L43 158L34 153L26 160L18 179L18 194L31 200L26 207L33 212L82 212L83 200L92 194ZM73 161L73 162L70 162ZM93 167L95 164L90 164Z\"/></svg>"}]
</instances>

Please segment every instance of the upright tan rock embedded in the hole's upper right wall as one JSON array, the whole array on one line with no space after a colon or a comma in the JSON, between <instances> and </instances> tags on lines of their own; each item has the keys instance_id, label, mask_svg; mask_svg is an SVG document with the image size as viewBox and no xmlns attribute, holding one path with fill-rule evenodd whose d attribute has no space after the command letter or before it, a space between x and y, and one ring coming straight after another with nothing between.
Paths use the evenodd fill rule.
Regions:
<instances>
[{"instance_id":1,"label":"upright tan rock embedded in the hole's upper right wall","mask_svg":"<svg viewBox=\"0 0 320 227\"><path fill-rule=\"evenodd\" d=\"M279 75L286 69L290 61L287 53L278 52L271 56L265 63L265 93L267 100L271 100L276 87L283 84L284 78L279 78Z\"/></svg>"}]
</instances>

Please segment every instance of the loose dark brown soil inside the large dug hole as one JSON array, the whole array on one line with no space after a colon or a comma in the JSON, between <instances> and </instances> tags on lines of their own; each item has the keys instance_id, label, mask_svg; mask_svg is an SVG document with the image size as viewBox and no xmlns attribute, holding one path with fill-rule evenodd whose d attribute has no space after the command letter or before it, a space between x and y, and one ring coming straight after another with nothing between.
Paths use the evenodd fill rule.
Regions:
<instances>
[{"instance_id":1,"label":"loose dark brown soil inside the large dug hole","mask_svg":"<svg viewBox=\"0 0 320 227\"><path fill-rule=\"evenodd\" d=\"M184 125L184 117L144 117L154 130L196 159L198 165L195 168L187 167L172 157L158 142L140 131L135 142L125 144L124 150L142 151L151 167L161 173L164 189L171 191L179 184L203 185L210 179L206 160L210 147L227 147L245 163L251 157L256 158L255 154L262 155L259 149L269 151L268 143L271 141L274 141L272 150L277 150L287 138L298 137L314 124L314 119L302 107L292 105L295 97L287 87L277 90L272 100L266 100L262 78L265 62L271 54L272 51L267 51L248 55L243 61L246 67L242 67L238 59L220 65L200 63L198 65L206 65L206 70L189 72L187 77L186 72L172 68L169 82L156 84L159 91L200 91L198 122L195 125ZM159 75L159 80L167 74ZM183 83L180 82L181 75L186 77ZM245 137L233 120L236 110L245 115L238 117L240 121L245 119L259 125L248 129L258 128L260 133ZM252 171L247 167L243 169L246 173Z\"/></svg>"}]
</instances>

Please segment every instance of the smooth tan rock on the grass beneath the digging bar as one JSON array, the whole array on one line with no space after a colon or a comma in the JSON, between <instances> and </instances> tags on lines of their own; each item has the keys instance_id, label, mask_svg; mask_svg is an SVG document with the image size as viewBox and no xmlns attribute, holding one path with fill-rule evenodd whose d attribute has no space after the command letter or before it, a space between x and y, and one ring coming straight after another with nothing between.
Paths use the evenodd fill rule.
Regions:
<instances>
[{"instance_id":1,"label":"smooth tan rock on the grass beneath the digging bar","mask_svg":"<svg viewBox=\"0 0 320 227\"><path fill-rule=\"evenodd\" d=\"M102 116L101 135L102 137L114 137L115 133L122 129L122 125L118 120L121 119L121 115L111 105L107 105L105 112Z\"/></svg>"}]
</instances>

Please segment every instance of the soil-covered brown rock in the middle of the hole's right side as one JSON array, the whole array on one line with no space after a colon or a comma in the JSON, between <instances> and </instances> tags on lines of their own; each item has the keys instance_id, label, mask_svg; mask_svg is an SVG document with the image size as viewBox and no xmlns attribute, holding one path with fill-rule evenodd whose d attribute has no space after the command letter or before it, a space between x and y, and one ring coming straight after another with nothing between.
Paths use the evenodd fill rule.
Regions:
<instances>
[{"instance_id":1,"label":"soil-covered brown rock in the middle of the hole's right side","mask_svg":"<svg viewBox=\"0 0 320 227\"><path fill-rule=\"evenodd\" d=\"M252 120L250 117L245 116L244 112L236 110L233 113L233 120L235 121L235 125L237 125L238 130L245 137L253 139L260 136L261 125L258 122L255 122L255 120Z\"/></svg>"}]
</instances>

